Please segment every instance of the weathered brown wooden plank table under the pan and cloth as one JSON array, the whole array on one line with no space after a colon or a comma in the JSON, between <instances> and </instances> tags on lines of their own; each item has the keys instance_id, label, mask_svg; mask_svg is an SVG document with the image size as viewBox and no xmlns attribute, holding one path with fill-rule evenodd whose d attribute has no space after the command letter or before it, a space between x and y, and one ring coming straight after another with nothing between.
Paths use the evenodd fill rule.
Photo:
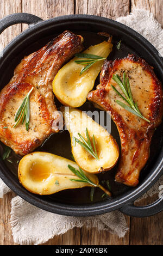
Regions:
<instances>
[{"instance_id":1,"label":"weathered brown wooden plank table under the pan and cloth","mask_svg":"<svg viewBox=\"0 0 163 256\"><path fill-rule=\"evenodd\" d=\"M66 14L94 14L116 19L126 16L135 8L151 11L163 26L162 0L1 0L0 18L12 13L31 13L43 20ZM14 25L6 29L0 37L3 46L21 33L27 25ZM10 200L14 193L0 199L0 245L16 245L12 239ZM157 196L156 196L157 197ZM141 205L151 203L156 197L143 200ZM109 232L100 233L92 228L74 228L64 235L53 237L46 245L161 245L163 242L163 212L148 218L126 216L129 231L124 238Z\"/></svg>"}]
</instances>

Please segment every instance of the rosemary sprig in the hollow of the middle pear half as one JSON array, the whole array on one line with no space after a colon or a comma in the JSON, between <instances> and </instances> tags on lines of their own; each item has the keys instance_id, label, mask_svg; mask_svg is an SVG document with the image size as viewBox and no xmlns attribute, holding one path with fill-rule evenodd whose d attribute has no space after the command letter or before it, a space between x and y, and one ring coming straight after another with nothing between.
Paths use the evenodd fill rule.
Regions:
<instances>
[{"instance_id":1,"label":"rosemary sprig in the hollow of the middle pear half","mask_svg":"<svg viewBox=\"0 0 163 256\"><path fill-rule=\"evenodd\" d=\"M96 145L95 145L95 136L93 135L93 148L91 145L91 141L90 141L90 137L89 137L89 133L87 131L86 128L86 137L87 137L87 141L83 138L83 136L78 132L78 135L80 137L80 139L82 139L82 141L79 141L79 139L77 139L76 137L73 137L73 143L77 142L78 144L80 144L91 156L93 156L96 160L99 160L98 155L97 155L97 151L96 151ZM75 145L75 144L73 144Z\"/></svg>"}]
</instances>

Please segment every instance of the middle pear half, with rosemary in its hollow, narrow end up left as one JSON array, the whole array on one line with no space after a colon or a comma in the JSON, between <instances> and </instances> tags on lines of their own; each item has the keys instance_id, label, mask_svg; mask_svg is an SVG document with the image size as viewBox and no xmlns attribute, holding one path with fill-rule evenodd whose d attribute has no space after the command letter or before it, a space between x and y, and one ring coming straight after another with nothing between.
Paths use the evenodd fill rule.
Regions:
<instances>
[{"instance_id":1,"label":"middle pear half, with rosemary in its hollow, narrow end up left","mask_svg":"<svg viewBox=\"0 0 163 256\"><path fill-rule=\"evenodd\" d=\"M77 164L86 172L100 173L114 167L119 149L115 139L86 113L76 108L62 107L65 124L70 132L72 154ZM95 153L92 156L78 141L89 142ZM89 143L88 143L89 144Z\"/></svg>"}]
</instances>

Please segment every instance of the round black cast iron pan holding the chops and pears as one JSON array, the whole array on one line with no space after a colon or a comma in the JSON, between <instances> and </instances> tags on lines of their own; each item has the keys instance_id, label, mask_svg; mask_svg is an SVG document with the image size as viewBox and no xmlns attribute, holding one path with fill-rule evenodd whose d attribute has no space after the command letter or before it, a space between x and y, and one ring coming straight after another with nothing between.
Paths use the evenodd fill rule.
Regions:
<instances>
[{"instance_id":1,"label":"round black cast iron pan holding the chops and pears","mask_svg":"<svg viewBox=\"0 0 163 256\"><path fill-rule=\"evenodd\" d=\"M20 13L4 17L0 21L0 33L5 28L16 23L28 23L29 28L16 36L1 53L0 89L9 82L16 65L20 63L25 55L27 56L38 50L66 29L83 35L85 47L91 44L98 44L104 40L102 36L97 35L97 32L108 32L113 35L114 44L114 49L109 56L110 59L124 57L128 53L134 53L145 58L150 65L154 66L154 71L163 84L162 57L160 57L158 51L140 34L121 23L91 15L66 15L42 21L34 15ZM120 39L122 40L121 50L117 51L116 44ZM95 87L97 83L98 80ZM59 106L59 102L57 104ZM94 107L91 103L86 102L82 109L93 110ZM116 138L120 146L118 131L113 122L111 123L111 134ZM71 159L70 136L67 131L52 135L36 150L51 152ZM2 151L3 144L1 143L1 154ZM135 188L130 188L114 182L116 166L111 171L98 175L99 180L110 180L114 196L111 199L102 199L101 192L97 191L93 203L89 199L90 188L78 189L75 192L74 190L61 191L51 196L38 196L30 193L21 186L17 178L16 162L18 156L12 153L12 157L13 164L7 161L4 162L2 158L0 159L0 176L2 180L20 197L44 210L62 215L91 216L118 209L130 216L145 217L156 214L163 209L163 200L159 196L158 200L151 205L137 207L133 203L135 199L147 192L163 173L162 125L158 127L153 136L151 155L141 172L139 185Z\"/></svg>"}]
</instances>

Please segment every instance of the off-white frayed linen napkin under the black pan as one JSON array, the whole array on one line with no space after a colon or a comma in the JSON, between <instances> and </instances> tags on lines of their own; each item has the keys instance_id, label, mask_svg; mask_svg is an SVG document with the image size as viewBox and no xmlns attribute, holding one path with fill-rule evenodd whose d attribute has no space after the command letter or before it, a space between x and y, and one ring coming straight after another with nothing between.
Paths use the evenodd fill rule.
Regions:
<instances>
[{"instance_id":1,"label":"off-white frayed linen napkin under the black pan","mask_svg":"<svg viewBox=\"0 0 163 256\"><path fill-rule=\"evenodd\" d=\"M163 56L163 29L149 11L137 9L127 17L119 17L117 21L145 36ZM160 185L163 185L163 176L141 198L159 193ZM0 198L9 191L0 179ZM83 225L87 228L108 230L119 237L123 237L128 230L126 219L119 211L93 217L62 216L41 210L18 196L11 200L10 223L14 241L20 245L39 245L55 235L64 234L69 229Z\"/></svg>"}]
</instances>

